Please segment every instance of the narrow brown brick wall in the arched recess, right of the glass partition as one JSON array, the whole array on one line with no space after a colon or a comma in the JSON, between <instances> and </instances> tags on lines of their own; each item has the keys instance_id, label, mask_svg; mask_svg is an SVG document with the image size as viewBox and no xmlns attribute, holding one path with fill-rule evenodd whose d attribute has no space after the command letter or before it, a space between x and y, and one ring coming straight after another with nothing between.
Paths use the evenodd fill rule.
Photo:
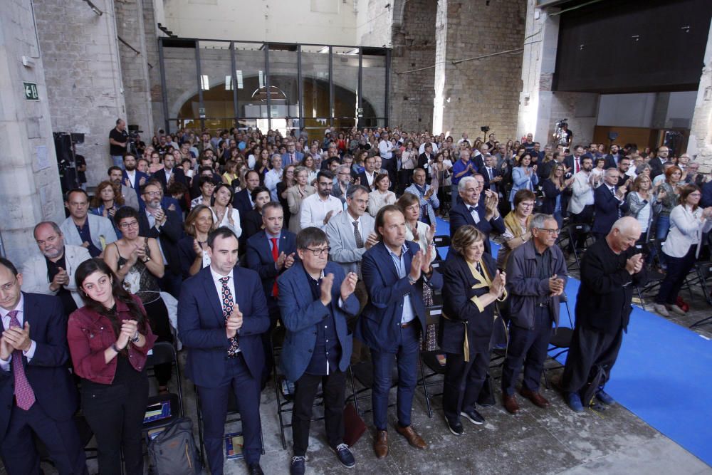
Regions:
<instances>
[{"instance_id":1,"label":"narrow brown brick wall in the arched recess, right of the glass partition","mask_svg":"<svg viewBox=\"0 0 712 475\"><path fill-rule=\"evenodd\" d=\"M403 130L432 130L436 0L409 0L393 26L390 120ZM408 72L412 71L412 72Z\"/></svg>"}]
</instances>

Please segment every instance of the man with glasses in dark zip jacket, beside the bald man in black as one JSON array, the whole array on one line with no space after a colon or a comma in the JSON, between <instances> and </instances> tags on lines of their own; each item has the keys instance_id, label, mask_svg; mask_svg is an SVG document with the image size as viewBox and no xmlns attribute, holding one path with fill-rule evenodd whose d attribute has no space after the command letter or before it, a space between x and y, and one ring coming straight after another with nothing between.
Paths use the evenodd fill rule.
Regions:
<instances>
[{"instance_id":1,"label":"man with glasses in dark zip jacket, beside the bald man in black","mask_svg":"<svg viewBox=\"0 0 712 475\"><path fill-rule=\"evenodd\" d=\"M520 395L538 407L549 406L539 393L551 325L559 325L559 302L566 286L566 259L559 246L558 224L550 214L536 214L532 239L512 251L507 261L507 290L511 306L509 344L502 368L502 400L511 414L519 411L515 389L524 365Z\"/></svg>"}]
</instances>

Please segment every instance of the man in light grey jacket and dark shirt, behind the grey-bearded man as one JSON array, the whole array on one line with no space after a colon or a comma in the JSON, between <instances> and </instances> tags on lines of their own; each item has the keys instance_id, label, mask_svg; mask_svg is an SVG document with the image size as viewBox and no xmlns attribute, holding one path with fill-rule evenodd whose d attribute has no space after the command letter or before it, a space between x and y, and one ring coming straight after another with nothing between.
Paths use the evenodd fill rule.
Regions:
<instances>
[{"instance_id":1,"label":"man in light grey jacket and dark shirt, behind the grey-bearded man","mask_svg":"<svg viewBox=\"0 0 712 475\"><path fill-rule=\"evenodd\" d=\"M81 188L70 189L64 205L69 217L60 224L66 244L82 246L99 257L107 244L117 240L114 226L104 216L89 213L89 195Z\"/></svg>"}]
</instances>

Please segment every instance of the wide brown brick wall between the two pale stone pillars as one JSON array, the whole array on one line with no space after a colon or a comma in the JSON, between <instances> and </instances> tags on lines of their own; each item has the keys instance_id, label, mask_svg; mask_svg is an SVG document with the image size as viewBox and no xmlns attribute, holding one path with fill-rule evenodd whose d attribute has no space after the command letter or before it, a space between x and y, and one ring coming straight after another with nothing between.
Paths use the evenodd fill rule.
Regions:
<instances>
[{"instance_id":1,"label":"wide brown brick wall between the two pale stone pillars","mask_svg":"<svg viewBox=\"0 0 712 475\"><path fill-rule=\"evenodd\" d=\"M482 137L480 127L488 125L498 140L515 137L521 54L452 62L521 48L526 6L525 0L447 1L442 132Z\"/></svg>"}]
</instances>

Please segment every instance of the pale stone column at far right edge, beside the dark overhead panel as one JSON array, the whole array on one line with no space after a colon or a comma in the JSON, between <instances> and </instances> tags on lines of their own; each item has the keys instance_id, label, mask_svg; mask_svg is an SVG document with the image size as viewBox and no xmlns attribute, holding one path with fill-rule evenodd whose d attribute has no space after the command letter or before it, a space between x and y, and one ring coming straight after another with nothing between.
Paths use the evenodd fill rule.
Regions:
<instances>
[{"instance_id":1,"label":"pale stone column at far right edge, beside the dark overhead panel","mask_svg":"<svg viewBox=\"0 0 712 475\"><path fill-rule=\"evenodd\" d=\"M707 37L704 66L697 89L687 152L696 157L700 171L712 172L712 25Z\"/></svg>"}]
</instances>

